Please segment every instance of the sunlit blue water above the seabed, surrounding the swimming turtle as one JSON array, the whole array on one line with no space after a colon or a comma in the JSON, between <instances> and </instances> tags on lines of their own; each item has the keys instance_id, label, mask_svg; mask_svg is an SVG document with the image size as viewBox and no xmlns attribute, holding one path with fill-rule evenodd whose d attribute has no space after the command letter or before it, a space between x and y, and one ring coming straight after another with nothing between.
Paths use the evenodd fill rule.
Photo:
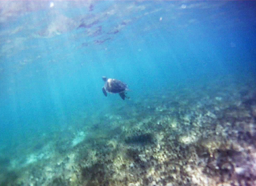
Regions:
<instances>
[{"instance_id":1,"label":"sunlit blue water above the seabed, surrounding the swimming turtle","mask_svg":"<svg viewBox=\"0 0 256 186\"><path fill-rule=\"evenodd\" d=\"M53 3L0 2L5 150L178 84L255 76L254 1ZM102 76L128 84L131 99L105 97Z\"/></svg>"}]
</instances>

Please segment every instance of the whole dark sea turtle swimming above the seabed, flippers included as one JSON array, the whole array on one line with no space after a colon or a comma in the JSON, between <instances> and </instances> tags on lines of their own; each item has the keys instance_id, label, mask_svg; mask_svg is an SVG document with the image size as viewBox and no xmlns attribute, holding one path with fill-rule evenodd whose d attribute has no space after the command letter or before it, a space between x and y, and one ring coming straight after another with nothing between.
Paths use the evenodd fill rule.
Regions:
<instances>
[{"instance_id":1,"label":"whole dark sea turtle swimming above the seabed, flippers included","mask_svg":"<svg viewBox=\"0 0 256 186\"><path fill-rule=\"evenodd\" d=\"M129 99L129 97L125 95L125 91L128 90L127 84L117 79L107 78L106 76L103 76L102 79L105 81L104 87L102 87L102 92L105 96L107 96L107 93L119 93L123 100L125 98Z\"/></svg>"}]
</instances>

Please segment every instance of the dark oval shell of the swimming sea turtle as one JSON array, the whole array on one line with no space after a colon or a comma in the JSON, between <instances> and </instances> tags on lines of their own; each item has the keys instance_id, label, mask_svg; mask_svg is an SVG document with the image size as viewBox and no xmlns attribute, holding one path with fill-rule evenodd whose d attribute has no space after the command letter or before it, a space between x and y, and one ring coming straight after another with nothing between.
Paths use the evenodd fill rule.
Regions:
<instances>
[{"instance_id":1,"label":"dark oval shell of the swimming sea turtle","mask_svg":"<svg viewBox=\"0 0 256 186\"><path fill-rule=\"evenodd\" d=\"M105 90L109 93L122 93L127 89L127 85L120 80L109 78L105 82Z\"/></svg>"}]
</instances>

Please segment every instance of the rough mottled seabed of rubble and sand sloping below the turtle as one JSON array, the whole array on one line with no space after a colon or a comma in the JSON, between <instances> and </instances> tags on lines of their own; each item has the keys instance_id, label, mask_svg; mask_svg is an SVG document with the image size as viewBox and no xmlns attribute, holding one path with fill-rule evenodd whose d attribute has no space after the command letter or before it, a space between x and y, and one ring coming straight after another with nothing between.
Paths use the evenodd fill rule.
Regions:
<instances>
[{"instance_id":1,"label":"rough mottled seabed of rubble and sand sloping below the turtle","mask_svg":"<svg viewBox=\"0 0 256 186\"><path fill-rule=\"evenodd\" d=\"M180 84L3 147L0 186L255 186L255 82Z\"/></svg>"}]
</instances>

